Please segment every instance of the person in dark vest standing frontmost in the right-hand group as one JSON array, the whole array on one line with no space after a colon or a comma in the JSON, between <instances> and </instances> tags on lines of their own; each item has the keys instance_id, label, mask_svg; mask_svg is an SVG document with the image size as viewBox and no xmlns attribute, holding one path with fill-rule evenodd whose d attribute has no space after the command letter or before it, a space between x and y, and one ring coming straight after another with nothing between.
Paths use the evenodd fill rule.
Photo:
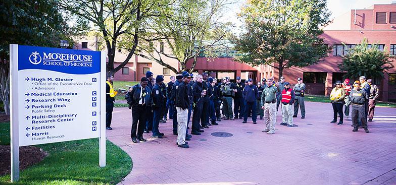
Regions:
<instances>
[{"instance_id":1,"label":"person in dark vest standing frontmost in the right-hand group","mask_svg":"<svg viewBox=\"0 0 396 185\"><path fill-rule=\"evenodd\" d=\"M352 126L354 130L352 132L358 132L359 120L362 122L362 127L366 133L369 133L367 129L367 118L365 115L365 102L369 99L369 94L360 88L360 82L355 81L354 90L349 95L352 104Z\"/></svg>"}]
</instances>

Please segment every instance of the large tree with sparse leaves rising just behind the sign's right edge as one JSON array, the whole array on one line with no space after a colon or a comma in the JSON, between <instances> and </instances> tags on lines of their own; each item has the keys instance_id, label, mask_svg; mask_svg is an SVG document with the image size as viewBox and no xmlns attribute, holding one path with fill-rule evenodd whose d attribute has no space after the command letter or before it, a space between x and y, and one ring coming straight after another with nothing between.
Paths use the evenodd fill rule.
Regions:
<instances>
[{"instance_id":1,"label":"large tree with sparse leaves rising just behind the sign's right edge","mask_svg":"<svg viewBox=\"0 0 396 185\"><path fill-rule=\"evenodd\" d=\"M107 49L106 70L112 74L122 69L138 53L139 39L144 38L147 25L166 15L170 0L60 0L60 7L75 16L76 20L89 22ZM101 43L99 43L102 46ZM127 57L114 68L116 51L123 48ZM100 48L102 49L102 48ZM136 53L135 53L136 52Z\"/></svg>"}]
</instances>

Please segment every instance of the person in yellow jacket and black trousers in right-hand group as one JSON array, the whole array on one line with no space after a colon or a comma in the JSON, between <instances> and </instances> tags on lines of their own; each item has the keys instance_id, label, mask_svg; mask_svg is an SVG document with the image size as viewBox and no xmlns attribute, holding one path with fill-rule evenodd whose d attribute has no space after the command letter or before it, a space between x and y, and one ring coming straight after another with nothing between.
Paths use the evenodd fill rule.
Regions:
<instances>
[{"instance_id":1,"label":"person in yellow jacket and black trousers in right-hand group","mask_svg":"<svg viewBox=\"0 0 396 185\"><path fill-rule=\"evenodd\" d=\"M342 106L345 103L345 90L342 88L340 81L335 82L335 87L330 93L330 102L333 106L333 120L330 121L331 124L337 122L337 113L339 115L339 122L337 125L343 124L344 113L342 112Z\"/></svg>"}]
</instances>

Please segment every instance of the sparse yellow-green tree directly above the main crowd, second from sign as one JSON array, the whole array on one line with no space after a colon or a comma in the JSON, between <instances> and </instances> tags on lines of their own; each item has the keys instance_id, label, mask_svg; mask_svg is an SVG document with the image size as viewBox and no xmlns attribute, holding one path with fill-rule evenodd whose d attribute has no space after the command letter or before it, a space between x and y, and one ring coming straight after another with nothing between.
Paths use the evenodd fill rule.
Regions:
<instances>
[{"instance_id":1,"label":"sparse yellow-green tree directly above the main crowd, second from sign","mask_svg":"<svg viewBox=\"0 0 396 185\"><path fill-rule=\"evenodd\" d=\"M174 0L168 7L168 14L149 25L151 34L139 45L144 51L139 55L174 73L193 72L198 56L213 58L218 48L227 47L224 39L230 34L231 24L222 23L219 18L228 4L225 0ZM156 41L164 42L171 53L158 49L153 43ZM169 65L165 58L176 59L180 70ZM187 69L187 61L191 59L192 66Z\"/></svg>"}]
</instances>

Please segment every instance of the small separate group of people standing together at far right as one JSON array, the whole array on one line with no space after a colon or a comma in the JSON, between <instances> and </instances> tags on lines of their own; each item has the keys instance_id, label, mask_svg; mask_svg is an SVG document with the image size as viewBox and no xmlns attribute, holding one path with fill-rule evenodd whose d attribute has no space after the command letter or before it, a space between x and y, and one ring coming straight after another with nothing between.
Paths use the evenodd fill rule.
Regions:
<instances>
[{"instance_id":1,"label":"small separate group of people standing together at far right","mask_svg":"<svg viewBox=\"0 0 396 185\"><path fill-rule=\"evenodd\" d=\"M358 132L358 129L362 128L369 133L367 121L373 120L376 99L379 97L378 87L372 84L371 79L366 81L365 76L361 76L353 85L349 79L345 79L343 83L337 81L335 84L336 87L330 93L333 106L333 120L330 123L336 123L338 115L337 125L342 125L343 115L348 117L352 106L352 131Z\"/></svg>"}]
</instances>

